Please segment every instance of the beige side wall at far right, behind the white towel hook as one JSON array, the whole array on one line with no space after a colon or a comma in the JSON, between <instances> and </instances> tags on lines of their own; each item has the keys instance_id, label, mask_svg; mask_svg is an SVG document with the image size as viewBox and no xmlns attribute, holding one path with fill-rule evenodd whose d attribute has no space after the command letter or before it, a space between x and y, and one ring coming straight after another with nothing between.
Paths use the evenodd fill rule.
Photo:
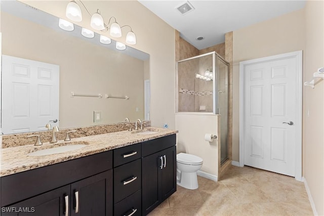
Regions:
<instances>
[{"instance_id":1,"label":"beige side wall at far right, behind the white towel hook","mask_svg":"<svg viewBox=\"0 0 324 216\"><path fill-rule=\"evenodd\" d=\"M304 81L310 81L317 68L324 66L323 14L323 1L307 1ZM303 93L303 176L317 214L324 215L324 81L314 89L304 86Z\"/></svg>"}]
</instances>

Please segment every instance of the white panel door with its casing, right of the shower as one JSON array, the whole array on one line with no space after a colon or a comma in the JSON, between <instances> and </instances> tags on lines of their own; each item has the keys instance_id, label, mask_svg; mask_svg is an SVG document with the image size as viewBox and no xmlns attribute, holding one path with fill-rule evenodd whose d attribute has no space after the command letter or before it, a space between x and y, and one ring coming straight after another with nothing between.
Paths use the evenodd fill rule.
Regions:
<instances>
[{"instance_id":1,"label":"white panel door with its casing, right of the shower","mask_svg":"<svg viewBox=\"0 0 324 216\"><path fill-rule=\"evenodd\" d=\"M240 166L301 181L301 116L302 51L240 62Z\"/></svg>"}]
</instances>

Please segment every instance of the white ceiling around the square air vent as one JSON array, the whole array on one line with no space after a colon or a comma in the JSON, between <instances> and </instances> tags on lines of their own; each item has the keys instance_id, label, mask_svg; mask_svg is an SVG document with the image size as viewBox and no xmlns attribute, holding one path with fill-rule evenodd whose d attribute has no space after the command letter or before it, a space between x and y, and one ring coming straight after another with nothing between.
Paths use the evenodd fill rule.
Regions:
<instances>
[{"instance_id":1,"label":"white ceiling around the square air vent","mask_svg":"<svg viewBox=\"0 0 324 216\"><path fill-rule=\"evenodd\" d=\"M225 41L225 33L305 7L306 1L199 1L189 0L194 10L182 15L177 7L186 1L139 0L198 50ZM203 36L205 39L196 40Z\"/></svg>"}]
</instances>

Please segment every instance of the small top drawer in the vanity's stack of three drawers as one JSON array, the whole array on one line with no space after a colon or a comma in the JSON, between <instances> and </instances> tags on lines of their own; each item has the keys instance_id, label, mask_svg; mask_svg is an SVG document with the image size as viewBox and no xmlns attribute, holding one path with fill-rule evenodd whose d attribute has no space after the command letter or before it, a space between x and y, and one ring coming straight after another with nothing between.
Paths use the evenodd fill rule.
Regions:
<instances>
[{"instance_id":1,"label":"small top drawer in the vanity's stack of three drawers","mask_svg":"<svg viewBox=\"0 0 324 216\"><path fill-rule=\"evenodd\" d=\"M119 166L141 158L141 144L134 144L113 150L113 166Z\"/></svg>"}]
</instances>

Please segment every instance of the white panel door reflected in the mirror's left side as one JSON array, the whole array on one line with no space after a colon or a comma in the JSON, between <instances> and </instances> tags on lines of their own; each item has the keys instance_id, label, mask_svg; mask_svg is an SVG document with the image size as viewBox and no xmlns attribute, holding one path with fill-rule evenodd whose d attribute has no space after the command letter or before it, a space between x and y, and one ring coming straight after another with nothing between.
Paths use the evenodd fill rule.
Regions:
<instances>
[{"instance_id":1,"label":"white panel door reflected in the mirror's left side","mask_svg":"<svg viewBox=\"0 0 324 216\"><path fill-rule=\"evenodd\" d=\"M2 133L46 130L59 119L59 66L6 55L2 64Z\"/></svg>"}]
</instances>

